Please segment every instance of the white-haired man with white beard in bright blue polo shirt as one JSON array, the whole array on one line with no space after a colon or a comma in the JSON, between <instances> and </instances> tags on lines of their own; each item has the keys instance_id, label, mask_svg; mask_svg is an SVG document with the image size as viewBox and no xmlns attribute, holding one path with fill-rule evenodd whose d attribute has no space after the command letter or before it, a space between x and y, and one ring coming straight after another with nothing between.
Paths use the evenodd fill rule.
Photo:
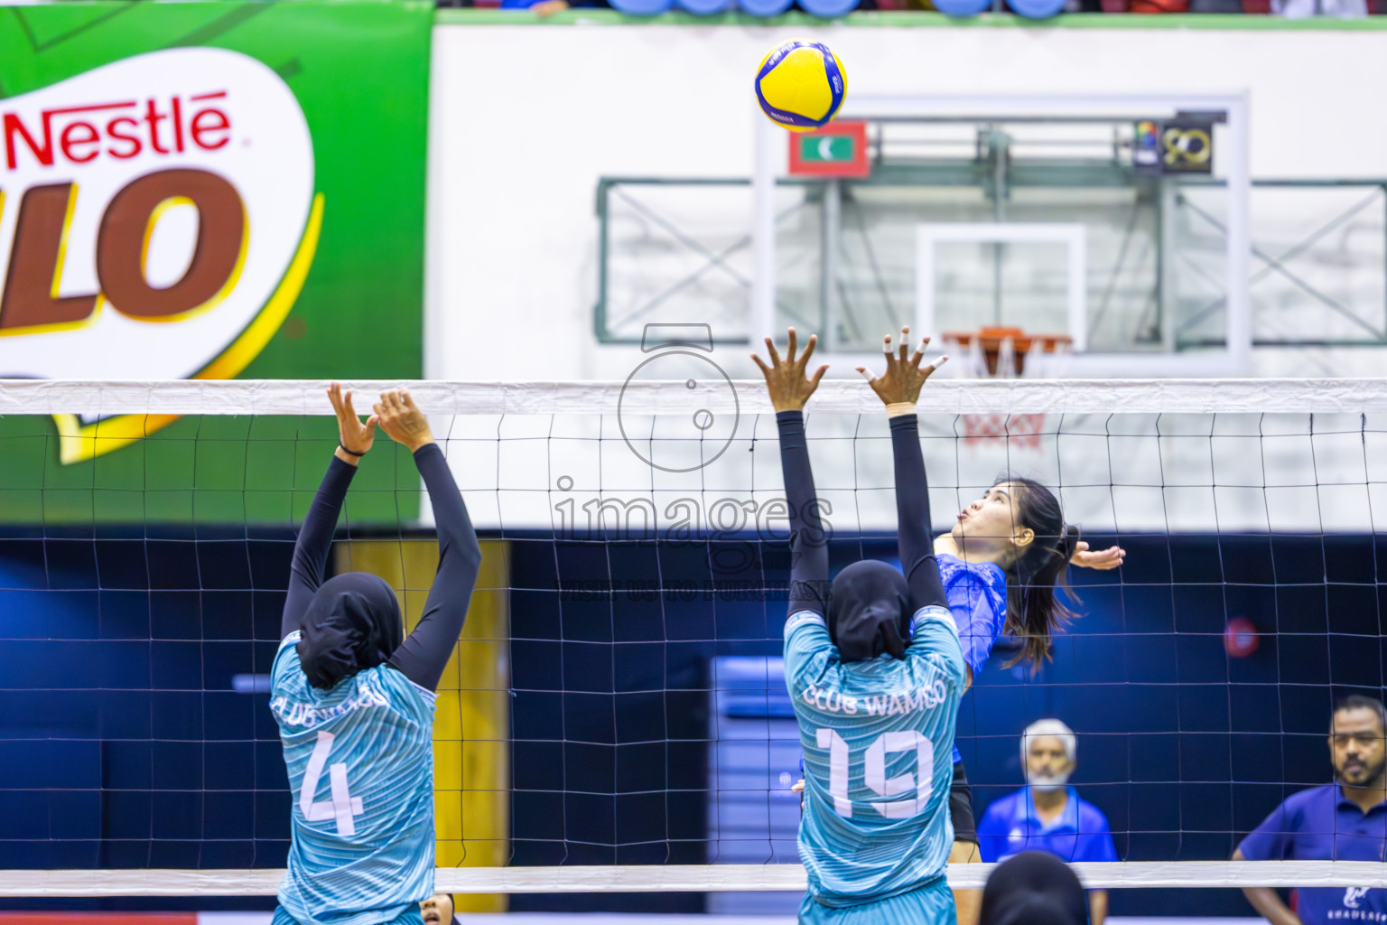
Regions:
<instances>
[{"instance_id":1,"label":"white-haired man with white beard in bright blue polo shirt","mask_svg":"<svg viewBox=\"0 0 1387 925\"><path fill-rule=\"evenodd\" d=\"M1022 851L1046 851L1061 861L1115 861L1108 817L1067 786L1078 759L1074 729L1060 720L1039 720L1021 734L1026 786L988 807L978 822L983 863L1006 861ZM1089 894L1089 918L1103 925L1107 890Z\"/></svg>"}]
</instances>

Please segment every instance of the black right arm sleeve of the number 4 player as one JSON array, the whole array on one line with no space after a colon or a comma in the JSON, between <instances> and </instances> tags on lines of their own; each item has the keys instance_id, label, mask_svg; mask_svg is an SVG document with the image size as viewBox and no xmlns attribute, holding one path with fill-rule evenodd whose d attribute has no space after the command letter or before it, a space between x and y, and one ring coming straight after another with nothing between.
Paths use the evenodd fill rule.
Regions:
<instances>
[{"instance_id":1,"label":"black right arm sleeve of the number 4 player","mask_svg":"<svg viewBox=\"0 0 1387 925\"><path fill-rule=\"evenodd\" d=\"M419 686L434 691L467 619L467 603L481 567L481 546L438 444L420 447L415 465L424 477L438 527L438 571L419 625L390 656L390 664Z\"/></svg>"}]
</instances>

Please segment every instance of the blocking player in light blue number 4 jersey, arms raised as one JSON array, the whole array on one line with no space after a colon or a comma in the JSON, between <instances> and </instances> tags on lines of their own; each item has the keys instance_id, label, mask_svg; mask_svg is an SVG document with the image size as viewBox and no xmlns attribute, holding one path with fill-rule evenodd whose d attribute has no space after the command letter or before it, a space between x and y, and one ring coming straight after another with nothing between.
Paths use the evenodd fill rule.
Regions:
<instances>
[{"instance_id":1,"label":"blocking player in light blue number 4 jersey, arms raised","mask_svg":"<svg viewBox=\"0 0 1387 925\"><path fill-rule=\"evenodd\" d=\"M294 541L270 668L293 831L273 925L423 925L419 903L434 888L433 692L466 621L481 546L408 391L381 394L365 424L350 390L333 383L327 395L341 440ZM376 424L413 451L438 526L438 570L408 637L383 578L326 578Z\"/></svg>"}]
</instances>

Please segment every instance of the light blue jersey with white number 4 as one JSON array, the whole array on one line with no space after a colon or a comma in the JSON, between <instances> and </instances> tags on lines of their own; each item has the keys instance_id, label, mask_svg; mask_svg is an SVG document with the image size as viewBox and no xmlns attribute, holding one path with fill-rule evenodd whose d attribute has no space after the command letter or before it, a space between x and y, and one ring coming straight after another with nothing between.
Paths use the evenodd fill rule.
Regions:
<instances>
[{"instance_id":1,"label":"light blue jersey with white number 4","mask_svg":"<svg viewBox=\"0 0 1387 925\"><path fill-rule=\"evenodd\" d=\"M434 883L434 693L386 664L319 691L298 638L284 638L270 670L294 800L280 906L302 925L417 913Z\"/></svg>"}]
</instances>

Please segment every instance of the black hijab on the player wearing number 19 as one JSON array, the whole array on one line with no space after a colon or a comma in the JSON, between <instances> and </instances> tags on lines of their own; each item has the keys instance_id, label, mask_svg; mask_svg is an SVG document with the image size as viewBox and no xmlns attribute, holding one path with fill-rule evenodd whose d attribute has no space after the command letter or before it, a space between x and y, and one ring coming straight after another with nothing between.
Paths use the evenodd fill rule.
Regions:
<instances>
[{"instance_id":1,"label":"black hijab on the player wearing number 19","mask_svg":"<svg viewBox=\"0 0 1387 925\"><path fill-rule=\"evenodd\" d=\"M863 559L834 578L828 637L843 662L865 662L884 652L906 657L910 641L910 587L885 562Z\"/></svg>"}]
</instances>

